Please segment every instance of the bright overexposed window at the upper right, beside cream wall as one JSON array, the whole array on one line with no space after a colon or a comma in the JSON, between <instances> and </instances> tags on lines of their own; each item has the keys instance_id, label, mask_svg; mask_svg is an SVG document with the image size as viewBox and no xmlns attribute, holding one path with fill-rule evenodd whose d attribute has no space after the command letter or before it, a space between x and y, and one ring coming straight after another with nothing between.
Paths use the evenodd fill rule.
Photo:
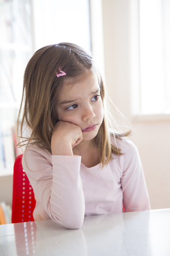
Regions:
<instances>
[{"instance_id":1,"label":"bright overexposed window at the upper right, beside cream wall","mask_svg":"<svg viewBox=\"0 0 170 256\"><path fill-rule=\"evenodd\" d=\"M131 1L133 109L170 114L170 2Z\"/></svg>"}]
</instances>

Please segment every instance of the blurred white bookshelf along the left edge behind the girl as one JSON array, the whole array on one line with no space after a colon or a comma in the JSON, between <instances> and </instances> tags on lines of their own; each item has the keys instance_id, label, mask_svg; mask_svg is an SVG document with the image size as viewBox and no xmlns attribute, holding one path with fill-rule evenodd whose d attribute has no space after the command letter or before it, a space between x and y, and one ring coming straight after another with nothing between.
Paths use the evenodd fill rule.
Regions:
<instances>
[{"instance_id":1,"label":"blurred white bookshelf along the left edge behind the girl","mask_svg":"<svg viewBox=\"0 0 170 256\"><path fill-rule=\"evenodd\" d=\"M32 1L0 3L0 178L13 174L16 119L32 51Z\"/></svg>"}]
</instances>

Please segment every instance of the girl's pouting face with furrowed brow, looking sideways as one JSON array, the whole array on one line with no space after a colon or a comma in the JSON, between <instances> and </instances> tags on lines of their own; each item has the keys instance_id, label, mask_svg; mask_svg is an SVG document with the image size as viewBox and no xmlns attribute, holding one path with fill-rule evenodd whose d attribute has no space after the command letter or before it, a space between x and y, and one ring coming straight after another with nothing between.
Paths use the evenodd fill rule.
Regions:
<instances>
[{"instance_id":1,"label":"girl's pouting face with furrowed brow, looking sideways","mask_svg":"<svg viewBox=\"0 0 170 256\"><path fill-rule=\"evenodd\" d=\"M83 141L96 137L103 122L103 102L96 74L65 78L58 97L57 116L60 121L78 125Z\"/></svg>"}]
</instances>

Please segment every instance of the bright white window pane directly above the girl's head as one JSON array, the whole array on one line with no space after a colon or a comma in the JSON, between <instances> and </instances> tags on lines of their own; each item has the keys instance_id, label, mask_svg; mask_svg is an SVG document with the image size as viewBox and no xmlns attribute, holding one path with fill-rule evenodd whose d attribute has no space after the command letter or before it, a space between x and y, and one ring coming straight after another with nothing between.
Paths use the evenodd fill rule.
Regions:
<instances>
[{"instance_id":1,"label":"bright white window pane directly above the girl's head","mask_svg":"<svg viewBox=\"0 0 170 256\"><path fill-rule=\"evenodd\" d=\"M35 50L70 42L91 51L89 0L33 0Z\"/></svg>"}]
</instances>

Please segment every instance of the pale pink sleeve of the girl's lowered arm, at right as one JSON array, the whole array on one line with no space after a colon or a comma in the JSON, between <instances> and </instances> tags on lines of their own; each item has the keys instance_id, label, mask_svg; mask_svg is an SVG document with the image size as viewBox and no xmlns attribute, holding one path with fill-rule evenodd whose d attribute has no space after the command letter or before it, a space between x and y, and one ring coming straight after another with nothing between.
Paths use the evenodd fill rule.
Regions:
<instances>
[{"instance_id":1,"label":"pale pink sleeve of the girl's lowered arm, at right","mask_svg":"<svg viewBox=\"0 0 170 256\"><path fill-rule=\"evenodd\" d=\"M125 140L121 185L125 212L150 210L149 196L137 147Z\"/></svg>"}]
</instances>

